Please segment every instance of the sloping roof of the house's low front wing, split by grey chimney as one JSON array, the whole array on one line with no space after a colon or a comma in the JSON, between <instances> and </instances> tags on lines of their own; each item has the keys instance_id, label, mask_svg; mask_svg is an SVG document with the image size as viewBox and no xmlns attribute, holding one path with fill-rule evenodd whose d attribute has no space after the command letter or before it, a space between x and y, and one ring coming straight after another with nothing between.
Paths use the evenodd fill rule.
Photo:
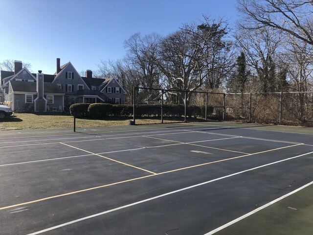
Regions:
<instances>
[{"instance_id":1,"label":"sloping roof of the house's low front wing, split by grey chimney","mask_svg":"<svg viewBox=\"0 0 313 235\"><path fill-rule=\"evenodd\" d=\"M13 92L37 92L36 82L10 81ZM44 82L44 93L61 93L64 92L57 84Z\"/></svg>"}]
</instances>

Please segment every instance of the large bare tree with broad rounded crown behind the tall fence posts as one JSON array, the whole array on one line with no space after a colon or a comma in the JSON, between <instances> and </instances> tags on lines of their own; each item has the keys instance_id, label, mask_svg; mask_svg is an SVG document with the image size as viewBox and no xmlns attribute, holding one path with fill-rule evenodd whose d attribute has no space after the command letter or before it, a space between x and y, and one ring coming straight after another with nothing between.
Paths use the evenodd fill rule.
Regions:
<instances>
[{"instance_id":1,"label":"large bare tree with broad rounded crown behind the tall fence posts","mask_svg":"<svg viewBox=\"0 0 313 235\"><path fill-rule=\"evenodd\" d=\"M165 37L160 44L158 65L167 88L196 91L203 84L209 88L222 85L229 44L224 40L227 26L222 20L185 24ZM177 93L179 101L184 94ZM188 102L189 93L186 97Z\"/></svg>"}]
</instances>

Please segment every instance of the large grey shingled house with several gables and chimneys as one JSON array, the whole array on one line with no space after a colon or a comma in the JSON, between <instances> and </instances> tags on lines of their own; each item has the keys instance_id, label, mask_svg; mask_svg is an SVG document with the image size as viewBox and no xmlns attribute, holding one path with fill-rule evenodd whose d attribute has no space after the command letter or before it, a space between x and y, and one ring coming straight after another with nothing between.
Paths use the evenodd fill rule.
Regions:
<instances>
[{"instance_id":1,"label":"large grey shingled house with several gables and chimneys","mask_svg":"<svg viewBox=\"0 0 313 235\"><path fill-rule=\"evenodd\" d=\"M70 62L60 66L59 58L57 58L56 72L54 74L41 74L44 79L43 99L46 100L48 108L53 106L55 109L56 104L54 104L54 100L56 100L55 102L59 102L59 95L61 94L64 95L63 109L73 103L102 103L111 101L116 104L125 104L126 91L115 78L93 78L92 71L90 70L85 72L85 77L81 77ZM34 90L34 87L36 85L25 83L33 82L36 84L36 76L36 74L29 72L26 68L22 68L21 61L15 62L14 72L1 71L1 100L10 101L11 107L15 111L22 111L21 107L33 108L34 111L39 111L35 104L37 95L34 93L37 91ZM24 94L24 98L19 98L19 101L16 102L16 95L21 96L22 94ZM28 95L27 97L26 94ZM33 97L32 102L30 102L31 94ZM51 103L51 95L53 96L53 103ZM22 102L24 103L22 104ZM57 110L59 110L58 106Z\"/></svg>"}]
</instances>

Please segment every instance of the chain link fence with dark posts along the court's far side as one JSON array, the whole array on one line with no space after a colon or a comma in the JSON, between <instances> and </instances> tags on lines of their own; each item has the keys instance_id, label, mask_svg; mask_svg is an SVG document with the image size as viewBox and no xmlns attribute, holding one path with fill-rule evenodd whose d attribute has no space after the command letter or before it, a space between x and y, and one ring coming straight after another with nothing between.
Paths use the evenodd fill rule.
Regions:
<instances>
[{"instance_id":1,"label":"chain link fence with dark posts along the court's far side","mask_svg":"<svg viewBox=\"0 0 313 235\"><path fill-rule=\"evenodd\" d=\"M313 123L313 92L209 93L134 87L135 118Z\"/></svg>"}]
</instances>

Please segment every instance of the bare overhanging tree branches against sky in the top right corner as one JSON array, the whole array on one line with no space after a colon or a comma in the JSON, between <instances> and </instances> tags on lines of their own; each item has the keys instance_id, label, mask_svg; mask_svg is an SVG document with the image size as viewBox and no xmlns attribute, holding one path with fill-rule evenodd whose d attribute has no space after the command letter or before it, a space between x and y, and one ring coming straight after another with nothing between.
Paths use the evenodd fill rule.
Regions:
<instances>
[{"instance_id":1,"label":"bare overhanging tree branches against sky in the top right corner","mask_svg":"<svg viewBox=\"0 0 313 235\"><path fill-rule=\"evenodd\" d=\"M271 27L313 45L312 0L237 0L242 27Z\"/></svg>"}]
</instances>

